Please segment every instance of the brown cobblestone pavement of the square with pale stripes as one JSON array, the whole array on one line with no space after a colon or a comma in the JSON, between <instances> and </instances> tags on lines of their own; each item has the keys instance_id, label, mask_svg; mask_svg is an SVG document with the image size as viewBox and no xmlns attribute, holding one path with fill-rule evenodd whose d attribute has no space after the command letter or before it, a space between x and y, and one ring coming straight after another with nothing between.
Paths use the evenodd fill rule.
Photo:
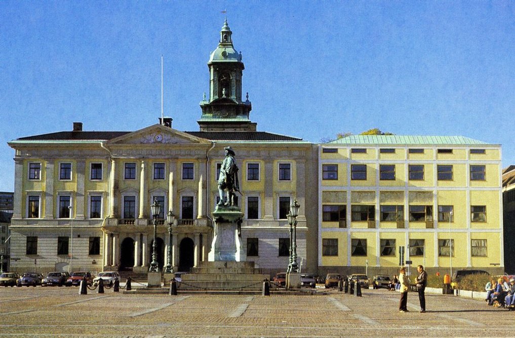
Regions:
<instances>
[{"instance_id":1,"label":"brown cobblestone pavement of the square with pale stripes","mask_svg":"<svg viewBox=\"0 0 515 338\"><path fill-rule=\"evenodd\" d=\"M78 288L0 288L0 336L506 336L515 311L426 294L336 290L320 295L129 295ZM495 325L494 325L495 323Z\"/></svg>"}]
</instances>

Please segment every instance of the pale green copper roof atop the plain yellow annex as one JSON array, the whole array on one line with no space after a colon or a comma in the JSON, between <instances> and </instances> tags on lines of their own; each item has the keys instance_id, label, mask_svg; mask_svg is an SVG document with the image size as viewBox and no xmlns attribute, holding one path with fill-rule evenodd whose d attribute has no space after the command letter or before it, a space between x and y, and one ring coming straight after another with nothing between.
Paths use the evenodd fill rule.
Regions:
<instances>
[{"instance_id":1,"label":"pale green copper roof atop the plain yellow annex","mask_svg":"<svg viewBox=\"0 0 515 338\"><path fill-rule=\"evenodd\" d=\"M488 145L465 136L351 135L329 144L341 145Z\"/></svg>"}]
</instances>

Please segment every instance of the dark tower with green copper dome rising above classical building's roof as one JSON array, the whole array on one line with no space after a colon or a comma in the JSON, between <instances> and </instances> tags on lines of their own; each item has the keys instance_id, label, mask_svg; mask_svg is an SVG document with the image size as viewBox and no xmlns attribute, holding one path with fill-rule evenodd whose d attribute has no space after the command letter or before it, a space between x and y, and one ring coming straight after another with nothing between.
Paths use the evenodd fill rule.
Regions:
<instances>
[{"instance_id":1,"label":"dark tower with green copper dome rising above classical building's roof","mask_svg":"<svg viewBox=\"0 0 515 338\"><path fill-rule=\"evenodd\" d=\"M252 104L248 93L242 100L242 75L245 66L242 52L232 44L232 31L227 19L220 31L218 47L211 53L209 67L209 98L200 102L202 116L197 121L200 131L255 131L249 119Z\"/></svg>"}]
</instances>

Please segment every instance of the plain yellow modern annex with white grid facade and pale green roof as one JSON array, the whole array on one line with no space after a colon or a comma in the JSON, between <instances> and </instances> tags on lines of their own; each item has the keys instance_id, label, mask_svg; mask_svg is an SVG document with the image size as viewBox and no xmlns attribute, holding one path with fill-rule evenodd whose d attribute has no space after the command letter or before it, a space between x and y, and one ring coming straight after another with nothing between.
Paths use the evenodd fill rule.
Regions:
<instances>
[{"instance_id":1,"label":"plain yellow modern annex with white grid facade and pale green roof","mask_svg":"<svg viewBox=\"0 0 515 338\"><path fill-rule=\"evenodd\" d=\"M504 271L499 145L357 135L319 157L319 271Z\"/></svg>"}]
</instances>

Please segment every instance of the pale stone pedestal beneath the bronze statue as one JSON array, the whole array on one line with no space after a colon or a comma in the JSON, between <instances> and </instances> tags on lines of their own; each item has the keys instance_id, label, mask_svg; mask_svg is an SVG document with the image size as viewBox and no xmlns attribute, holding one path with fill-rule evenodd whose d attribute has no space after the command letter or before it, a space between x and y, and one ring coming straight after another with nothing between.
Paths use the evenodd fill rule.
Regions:
<instances>
[{"instance_id":1,"label":"pale stone pedestal beneath the bronze statue","mask_svg":"<svg viewBox=\"0 0 515 338\"><path fill-rule=\"evenodd\" d=\"M237 206L217 206L213 211L215 236L211 243L209 261L238 261L239 238L238 224L241 224L243 212Z\"/></svg>"}]
</instances>

